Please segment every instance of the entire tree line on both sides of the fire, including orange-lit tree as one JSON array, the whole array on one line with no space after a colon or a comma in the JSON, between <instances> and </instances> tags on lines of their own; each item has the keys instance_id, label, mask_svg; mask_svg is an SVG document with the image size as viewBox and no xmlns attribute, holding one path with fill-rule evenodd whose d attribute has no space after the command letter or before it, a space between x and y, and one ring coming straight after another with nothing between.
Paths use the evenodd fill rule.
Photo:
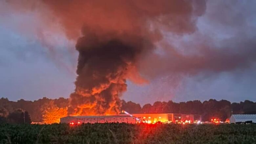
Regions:
<instances>
[{"instance_id":1,"label":"entire tree line on both sides of the fire, including orange-lit tree","mask_svg":"<svg viewBox=\"0 0 256 144\"><path fill-rule=\"evenodd\" d=\"M8 98L0 99L0 121L1 119L16 122L12 118L12 113L20 117L19 122L24 121L24 113L27 115L27 121L33 122L59 122L59 117L67 115L69 106L68 98L60 97L58 99L49 99L43 97L35 101L20 99L18 101L9 101ZM227 100L217 101L210 99L208 101L187 101L187 102L160 102L153 105L145 104L142 107L138 103L122 100L121 110L129 113L183 113L183 114L201 114L203 121L209 121L213 117L221 120L229 118L231 114L256 114L256 102L245 100L244 102L231 103ZM18 114L17 114L18 113ZM26 120L25 120L26 122Z\"/></svg>"}]
</instances>

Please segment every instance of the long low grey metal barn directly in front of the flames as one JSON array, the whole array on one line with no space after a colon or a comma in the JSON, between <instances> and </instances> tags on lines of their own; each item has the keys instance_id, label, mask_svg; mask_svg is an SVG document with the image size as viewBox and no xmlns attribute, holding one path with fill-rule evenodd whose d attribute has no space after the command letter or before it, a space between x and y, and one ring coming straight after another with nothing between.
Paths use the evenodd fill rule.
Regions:
<instances>
[{"instance_id":1,"label":"long low grey metal barn directly in front of the flames","mask_svg":"<svg viewBox=\"0 0 256 144\"><path fill-rule=\"evenodd\" d=\"M137 123L136 117L130 115L99 115L99 116L66 116L60 118L60 123Z\"/></svg>"}]
</instances>

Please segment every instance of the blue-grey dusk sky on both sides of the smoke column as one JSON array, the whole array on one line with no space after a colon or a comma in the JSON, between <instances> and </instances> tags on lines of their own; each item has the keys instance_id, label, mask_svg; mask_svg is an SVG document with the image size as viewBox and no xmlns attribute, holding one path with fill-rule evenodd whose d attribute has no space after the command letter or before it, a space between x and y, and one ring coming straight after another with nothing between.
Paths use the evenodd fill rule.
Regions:
<instances>
[{"instance_id":1,"label":"blue-grey dusk sky on both sides of the smoke column","mask_svg":"<svg viewBox=\"0 0 256 144\"><path fill-rule=\"evenodd\" d=\"M145 58L139 70L149 82L128 80L121 99L142 105L168 100L256 101L255 7L256 2L249 0L208 0L204 14L196 21L196 31L177 36L162 30L162 41L185 55L197 52L202 43L221 54L208 61L210 68L181 62L190 64L191 72L176 71L172 64L179 61L172 58L172 51L157 45L154 52L163 55L164 63L152 65L154 57ZM0 2L0 9L0 97L14 101L68 98L77 76L75 40L64 34L59 23L53 21L49 27L38 11L13 11L4 2ZM214 61L225 68L215 69Z\"/></svg>"}]
</instances>

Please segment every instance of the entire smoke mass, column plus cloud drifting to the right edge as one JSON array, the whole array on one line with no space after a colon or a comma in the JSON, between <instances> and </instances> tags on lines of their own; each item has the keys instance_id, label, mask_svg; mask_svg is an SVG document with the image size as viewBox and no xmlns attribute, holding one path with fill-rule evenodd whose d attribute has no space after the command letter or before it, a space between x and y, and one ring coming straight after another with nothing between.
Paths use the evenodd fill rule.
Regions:
<instances>
[{"instance_id":1,"label":"entire smoke mass, column plus cloud drifting to the right edge","mask_svg":"<svg viewBox=\"0 0 256 144\"><path fill-rule=\"evenodd\" d=\"M78 76L70 114L118 113L127 79L141 84L163 75L231 72L250 68L256 61L256 28L251 24L255 2L7 2L14 10L40 13L49 24L60 23L70 39L78 39Z\"/></svg>"}]
</instances>

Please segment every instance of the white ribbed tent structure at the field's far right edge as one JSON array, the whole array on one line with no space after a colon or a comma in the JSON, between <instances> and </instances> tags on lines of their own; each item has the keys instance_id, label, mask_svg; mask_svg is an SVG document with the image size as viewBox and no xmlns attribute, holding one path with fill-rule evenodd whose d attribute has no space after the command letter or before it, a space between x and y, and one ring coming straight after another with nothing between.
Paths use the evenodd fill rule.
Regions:
<instances>
[{"instance_id":1,"label":"white ribbed tent structure at the field's far right edge","mask_svg":"<svg viewBox=\"0 0 256 144\"><path fill-rule=\"evenodd\" d=\"M232 114L230 123L252 121L256 123L256 114Z\"/></svg>"}]
</instances>

